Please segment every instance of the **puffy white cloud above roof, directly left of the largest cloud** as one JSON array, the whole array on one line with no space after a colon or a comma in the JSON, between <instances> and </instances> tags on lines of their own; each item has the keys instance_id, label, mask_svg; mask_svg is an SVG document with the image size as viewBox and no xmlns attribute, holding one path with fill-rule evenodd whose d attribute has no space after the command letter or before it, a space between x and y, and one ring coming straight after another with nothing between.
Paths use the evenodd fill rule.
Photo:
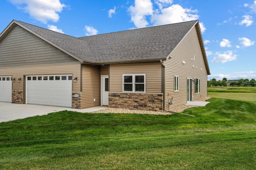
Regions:
<instances>
[{"instance_id":1,"label":"puffy white cloud above roof, directly left of the largest cloud","mask_svg":"<svg viewBox=\"0 0 256 170\"><path fill-rule=\"evenodd\" d=\"M134 6L129 7L131 21L137 28L147 27L146 16L153 14L153 4L150 0L135 0Z\"/></svg>"}]
</instances>

